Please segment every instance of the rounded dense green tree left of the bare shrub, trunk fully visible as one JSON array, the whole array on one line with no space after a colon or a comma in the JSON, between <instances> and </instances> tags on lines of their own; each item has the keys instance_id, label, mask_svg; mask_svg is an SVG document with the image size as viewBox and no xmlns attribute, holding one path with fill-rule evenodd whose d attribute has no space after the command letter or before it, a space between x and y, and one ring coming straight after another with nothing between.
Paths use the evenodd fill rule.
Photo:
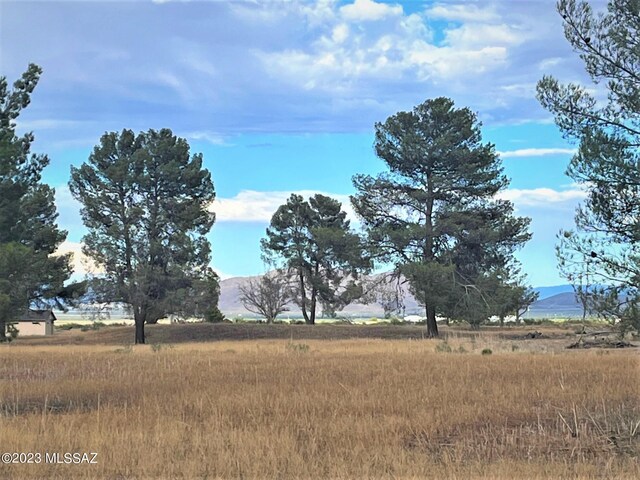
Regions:
<instances>
[{"instance_id":1,"label":"rounded dense green tree left of the bare shrub, trunk fully visible","mask_svg":"<svg viewBox=\"0 0 640 480\"><path fill-rule=\"evenodd\" d=\"M72 167L69 187L89 230L83 251L103 270L93 290L131 308L136 343L145 342L145 323L168 315L219 315L205 237L215 191L184 139L168 129L107 133Z\"/></svg>"}]
</instances>

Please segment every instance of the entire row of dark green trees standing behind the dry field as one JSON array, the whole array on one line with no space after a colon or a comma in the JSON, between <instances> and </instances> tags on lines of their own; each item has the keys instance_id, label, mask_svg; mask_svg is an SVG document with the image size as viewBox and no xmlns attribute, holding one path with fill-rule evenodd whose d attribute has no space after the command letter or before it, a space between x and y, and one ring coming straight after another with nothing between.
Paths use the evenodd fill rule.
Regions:
<instances>
[{"instance_id":1,"label":"entire row of dark green trees standing behind the dry field","mask_svg":"<svg viewBox=\"0 0 640 480\"><path fill-rule=\"evenodd\" d=\"M559 265L585 309L637 329L640 7L612 1L603 16L573 0L558 8L568 40L608 93L602 105L583 87L552 77L537 87L560 129L580 144L567 173L588 192L576 230L560 234ZM66 232L56 225L53 190L41 182L49 160L30 152L32 133L15 131L41 73L30 65L13 89L0 78L0 339L29 306L64 307L80 298L127 305L136 343L145 342L145 324L169 315L220 320L206 238L215 221L211 174L202 155L168 129L107 133L72 167L70 191L88 230L83 252L99 270L67 284L70 255L53 255ZM492 315L518 315L535 300L514 259L531 237L530 220L498 199L509 181L472 111L448 98L427 100L377 123L374 148L385 171L353 178L361 231L337 200L292 195L262 240L276 273L245 289L248 305L273 319L293 299L313 324L318 311L335 315L356 300L394 309L399 301L388 287L402 281L424 305L434 337L437 316L479 326ZM373 288L362 278L378 265L391 273L386 286Z\"/></svg>"}]
</instances>

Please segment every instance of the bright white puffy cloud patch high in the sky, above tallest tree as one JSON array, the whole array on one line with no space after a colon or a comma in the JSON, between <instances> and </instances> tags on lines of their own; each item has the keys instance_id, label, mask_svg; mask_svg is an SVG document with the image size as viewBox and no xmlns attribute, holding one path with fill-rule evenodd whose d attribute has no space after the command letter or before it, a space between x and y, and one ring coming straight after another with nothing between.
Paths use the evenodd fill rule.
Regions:
<instances>
[{"instance_id":1,"label":"bright white puffy cloud patch high in the sky, above tallest tree","mask_svg":"<svg viewBox=\"0 0 640 480\"><path fill-rule=\"evenodd\" d=\"M400 6L358 0L339 11L340 16L323 17L307 48L256 52L270 76L303 91L331 93L334 98L361 95L363 86L389 81L457 84L470 75L504 68L511 50L530 37L518 26L476 21L447 26L437 43L425 16L406 15ZM381 21L375 28L354 25L364 18ZM468 82L463 89L469 89Z\"/></svg>"}]
</instances>

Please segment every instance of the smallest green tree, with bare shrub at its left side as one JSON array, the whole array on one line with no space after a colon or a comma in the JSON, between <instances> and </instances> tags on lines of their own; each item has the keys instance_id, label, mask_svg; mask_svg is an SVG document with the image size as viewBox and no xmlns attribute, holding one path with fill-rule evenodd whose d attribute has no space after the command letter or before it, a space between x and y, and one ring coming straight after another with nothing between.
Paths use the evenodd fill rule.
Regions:
<instances>
[{"instance_id":1,"label":"smallest green tree, with bare shrub at its left side","mask_svg":"<svg viewBox=\"0 0 640 480\"><path fill-rule=\"evenodd\" d=\"M362 296L358 279L371 262L341 203L333 198L317 194L306 201L291 195L273 215L262 249L266 257L284 262L308 324L315 323L319 305L333 316Z\"/></svg>"}]
</instances>

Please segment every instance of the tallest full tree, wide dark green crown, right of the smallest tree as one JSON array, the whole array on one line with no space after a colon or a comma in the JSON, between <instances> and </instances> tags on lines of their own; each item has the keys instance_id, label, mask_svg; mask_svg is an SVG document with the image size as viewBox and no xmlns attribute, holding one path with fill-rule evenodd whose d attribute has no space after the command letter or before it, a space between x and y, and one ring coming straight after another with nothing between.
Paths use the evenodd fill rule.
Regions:
<instances>
[{"instance_id":1,"label":"tallest full tree, wide dark green crown, right of the smallest tree","mask_svg":"<svg viewBox=\"0 0 640 480\"><path fill-rule=\"evenodd\" d=\"M436 315L479 324L491 277L530 238L529 219L495 199L508 180L494 146L482 143L476 116L447 98L377 123L374 146L388 170L356 175L352 197L372 255L406 277L430 337Z\"/></svg>"}]
</instances>

